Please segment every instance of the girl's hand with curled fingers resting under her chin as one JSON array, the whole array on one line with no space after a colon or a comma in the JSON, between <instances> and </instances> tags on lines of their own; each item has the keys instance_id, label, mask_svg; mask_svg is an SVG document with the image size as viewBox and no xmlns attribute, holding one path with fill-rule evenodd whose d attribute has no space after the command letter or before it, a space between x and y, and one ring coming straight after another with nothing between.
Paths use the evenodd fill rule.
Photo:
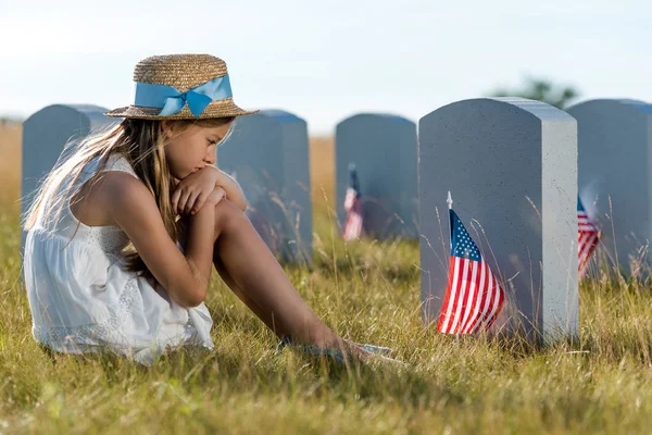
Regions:
<instances>
[{"instance_id":1,"label":"girl's hand with curled fingers resting under her chin","mask_svg":"<svg viewBox=\"0 0 652 435\"><path fill-rule=\"evenodd\" d=\"M205 166L193 174L181 179L172 194L172 209L179 214L195 214L206 202L213 194L218 171L212 166ZM223 196L225 196L225 191ZM222 197L217 200L220 202ZM215 202L215 203L217 203Z\"/></svg>"}]
</instances>

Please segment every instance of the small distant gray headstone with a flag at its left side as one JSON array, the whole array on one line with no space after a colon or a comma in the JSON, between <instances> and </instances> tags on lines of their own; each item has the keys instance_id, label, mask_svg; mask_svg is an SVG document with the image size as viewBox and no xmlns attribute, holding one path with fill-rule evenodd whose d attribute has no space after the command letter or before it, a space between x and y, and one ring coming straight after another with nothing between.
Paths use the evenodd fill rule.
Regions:
<instances>
[{"instance_id":1,"label":"small distant gray headstone with a flag at its left side","mask_svg":"<svg viewBox=\"0 0 652 435\"><path fill-rule=\"evenodd\" d=\"M417 237L416 125L394 115L359 114L337 125L335 140L340 223L347 219L343 203L354 163L364 232L376 238Z\"/></svg>"}]
</instances>

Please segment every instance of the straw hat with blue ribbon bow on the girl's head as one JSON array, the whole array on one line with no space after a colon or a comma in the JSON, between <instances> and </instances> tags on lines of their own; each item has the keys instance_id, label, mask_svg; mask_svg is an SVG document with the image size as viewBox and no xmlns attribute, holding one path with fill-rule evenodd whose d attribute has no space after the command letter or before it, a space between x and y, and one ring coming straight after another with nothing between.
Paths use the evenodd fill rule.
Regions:
<instances>
[{"instance_id":1,"label":"straw hat with blue ribbon bow on the girl's head","mask_svg":"<svg viewBox=\"0 0 652 435\"><path fill-rule=\"evenodd\" d=\"M105 116L197 120L242 116L258 112L246 111L236 105L231 97L226 63L210 54L146 58L136 65L134 82L135 103L111 110L104 113ZM197 103L198 99L203 103ZM195 103L192 108L191 103ZM168 105L175 109L171 111Z\"/></svg>"}]
</instances>

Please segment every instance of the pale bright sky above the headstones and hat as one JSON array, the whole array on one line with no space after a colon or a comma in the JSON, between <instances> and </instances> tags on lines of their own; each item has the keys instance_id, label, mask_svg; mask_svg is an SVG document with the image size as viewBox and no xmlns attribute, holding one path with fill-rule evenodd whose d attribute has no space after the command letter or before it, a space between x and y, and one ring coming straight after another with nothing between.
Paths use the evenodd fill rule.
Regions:
<instances>
[{"instance_id":1,"label":"pale bright sky above the headstones and hat","mask_svg":"<svg viewBox=\"0 0 652 435\"><path fill-rule=\"evenodd\" d=\"M311 135L360 112L417 122L528 76L652 101L649 0L0 0L0 116L128 105L136 63L168 53L224 59L240 107Z\"/></svg>"}]
</instances>

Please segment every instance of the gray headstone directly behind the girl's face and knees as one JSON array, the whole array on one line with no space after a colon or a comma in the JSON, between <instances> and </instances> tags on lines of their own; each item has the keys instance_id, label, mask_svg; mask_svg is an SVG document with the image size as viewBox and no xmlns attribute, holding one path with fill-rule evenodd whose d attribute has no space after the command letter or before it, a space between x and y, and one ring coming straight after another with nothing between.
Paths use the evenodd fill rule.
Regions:
<instances>
[{"instance_id":1,"label":"gray headstone directly behind the girl's face and knees","mask_svg":"<svg viewBox=\"0 0 652 435\"><path fill-rule=\"evenodd\" d=\"M312 262L308 126L280 110L238 117L217 147L217 166L235 175L251 222L283 260Z\"/></svg>"}]
</instances>

